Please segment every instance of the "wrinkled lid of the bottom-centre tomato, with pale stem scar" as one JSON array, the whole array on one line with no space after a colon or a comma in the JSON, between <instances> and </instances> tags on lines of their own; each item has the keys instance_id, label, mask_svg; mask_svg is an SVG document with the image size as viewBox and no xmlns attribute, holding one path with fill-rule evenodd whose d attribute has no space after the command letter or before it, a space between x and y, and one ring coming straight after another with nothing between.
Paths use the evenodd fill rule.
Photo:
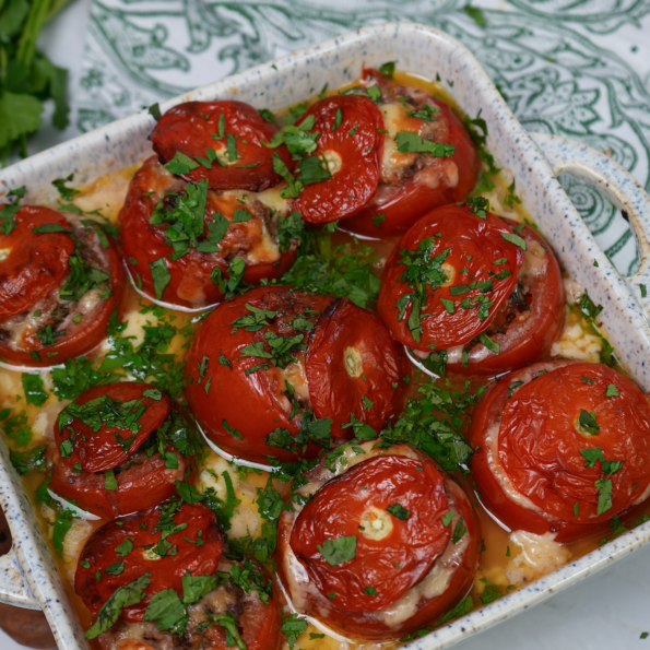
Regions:
<instances>
[{"instance_id":1,"label":"wrinkled lid of the bottom-centre tomato, with pale stem scar","mask_svg":"<svg viewBox=\"0 0 650 650\"><path fill-rule=\"evenodd\" d=\"M449 511L434 462L379 456L319 489L289 543L333 606L376 612L419 582L445 552Z\"/></svg>"}]
</instances>

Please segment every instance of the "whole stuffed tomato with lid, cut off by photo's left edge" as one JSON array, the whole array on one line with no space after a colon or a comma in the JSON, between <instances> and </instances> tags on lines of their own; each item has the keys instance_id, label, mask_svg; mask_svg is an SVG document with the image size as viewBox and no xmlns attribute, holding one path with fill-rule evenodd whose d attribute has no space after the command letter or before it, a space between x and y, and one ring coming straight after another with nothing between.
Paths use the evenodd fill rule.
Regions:
<instances>
[{"instance_id":1,"label":"whole stuffed tomato with lid, cut off by photo's left edge","mask_svg":"<svg viewBox=\"0 0 650 650\"><path fill-rule=\"evenodd\" d=\"M93 350L121 316L125 273L99 224L24 206L0 234L0 358L50 366Z\"/></svg>"}]
</instances>

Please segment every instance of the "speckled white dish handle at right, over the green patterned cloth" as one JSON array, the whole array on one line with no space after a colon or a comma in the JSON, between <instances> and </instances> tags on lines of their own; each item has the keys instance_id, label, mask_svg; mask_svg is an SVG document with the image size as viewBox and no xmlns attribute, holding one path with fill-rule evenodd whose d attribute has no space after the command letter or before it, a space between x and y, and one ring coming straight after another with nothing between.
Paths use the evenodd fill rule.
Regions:
<instances>
[{"instance_id":1,"label":"speckled white dish handle at right, over the green patterned cloth","mask_svg":"<svg viewBox=\"0 0 650 650\"><path fill-rule=\"evenodd\" d=\"M556 176L566 172L590 182L625 211L641 258L638 271L625 280L650 321L650 197L629 172L594 149L558 135L531 135Z\"/></svg>"}]
</instances>

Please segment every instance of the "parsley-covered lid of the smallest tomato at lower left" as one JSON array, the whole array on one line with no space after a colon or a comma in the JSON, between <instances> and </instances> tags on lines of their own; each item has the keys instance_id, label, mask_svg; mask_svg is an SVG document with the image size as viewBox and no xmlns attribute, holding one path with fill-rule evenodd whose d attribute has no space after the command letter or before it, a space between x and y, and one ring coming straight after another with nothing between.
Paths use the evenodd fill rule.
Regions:
<instances>
[{"instance_id":1,"label":"parsley-covered lid of the smallest tomato at lower left","mask_svg":"<svg viewBox=\"0 0 650 650\"><path fill-rule=\"evenodd\" d=\"M116 468L172 412L172 400L154 386L121 381L82 393L59 413L55 442L61 460L84 472Z\"/></svg>"}]
</instances>

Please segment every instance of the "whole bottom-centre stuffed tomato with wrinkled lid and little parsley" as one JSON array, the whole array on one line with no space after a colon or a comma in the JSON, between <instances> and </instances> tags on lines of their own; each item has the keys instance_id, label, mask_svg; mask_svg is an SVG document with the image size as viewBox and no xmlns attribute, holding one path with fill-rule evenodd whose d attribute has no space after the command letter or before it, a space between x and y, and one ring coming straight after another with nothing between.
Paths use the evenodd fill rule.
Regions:
<instances>
[{"instance_id":1,"label":"whole bottom-centre stuffed tomato with wrinkled lid and little parsley","mask_svg":"<svg viewBox=\"0 0 650 650\"><path fill-rule=\"evenodd\" d=\"M345 636L435 624L470 589L480 530L463 491L406 445L347 446L303 476L280 518L277 566L294 606Z\"/></svg>"}]
</instances>

